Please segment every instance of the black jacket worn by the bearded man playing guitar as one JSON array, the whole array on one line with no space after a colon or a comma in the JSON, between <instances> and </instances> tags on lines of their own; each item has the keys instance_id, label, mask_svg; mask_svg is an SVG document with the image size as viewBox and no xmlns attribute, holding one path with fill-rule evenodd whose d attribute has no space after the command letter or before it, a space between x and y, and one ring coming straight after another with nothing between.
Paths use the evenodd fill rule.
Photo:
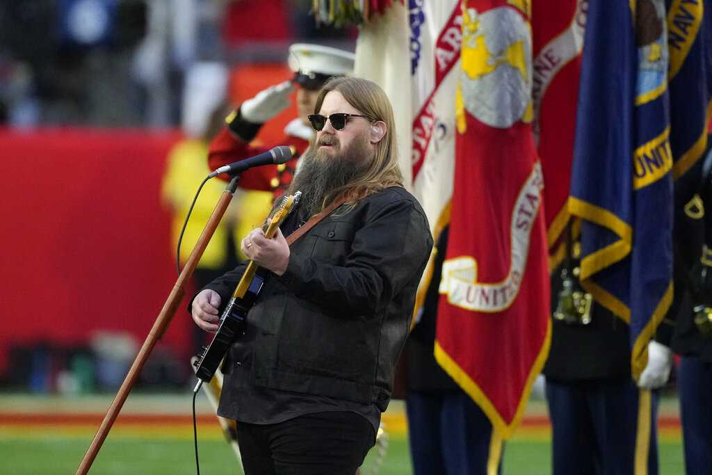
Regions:
<instances>
[{"instance_id":1,"label":"black jacket worn by the bearded man playing guitar","mask_svg":"<svg viewBox=\"0 0 712 475\"><path fill-rule=\"evenodd\" d=\"M298 214L283 224L287 235ZM362 199L320 221L290 246L283 276L266 280L229 365L248 352L255 387L322 395L385 410L394 365L433 240L417 200L400 187ZM222 303L244 271L206 288ZM223 399L229 400L230 368Z\"/></svg>"}]
</instances>

